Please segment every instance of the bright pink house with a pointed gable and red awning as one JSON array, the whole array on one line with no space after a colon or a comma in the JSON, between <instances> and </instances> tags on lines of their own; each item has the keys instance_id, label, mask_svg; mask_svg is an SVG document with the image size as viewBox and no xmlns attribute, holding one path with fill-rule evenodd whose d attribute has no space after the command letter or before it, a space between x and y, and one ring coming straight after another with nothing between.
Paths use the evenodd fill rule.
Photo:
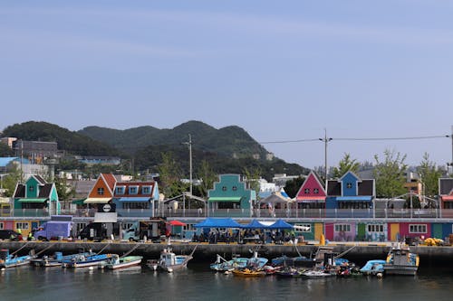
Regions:
<instances>
[{"instance_id":1,"label":"bright pink house with a pointed gable and red awning","mask_svg":"<svg viewBox=\"0 0 453 301\"><path fill-rule=\"evenodd\" d=\"M319 209L325 208L324 185L314 172L308 174L295 198L298 208Z\"/></svg>"}]
</instances>

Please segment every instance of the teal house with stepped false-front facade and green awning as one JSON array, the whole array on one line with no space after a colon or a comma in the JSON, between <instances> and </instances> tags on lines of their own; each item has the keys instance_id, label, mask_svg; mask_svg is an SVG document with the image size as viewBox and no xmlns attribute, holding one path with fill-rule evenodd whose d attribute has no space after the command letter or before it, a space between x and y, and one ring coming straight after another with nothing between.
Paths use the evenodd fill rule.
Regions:
<instances>
[{"instance_id":1,"label":"teal house with stepped false-front facade and green awning","mask_svg":"<svg viewBox=\"0 0 453 301\"><path fill-rule=\"evenodd\" d=\"M207 192L209 216L251 216L256 192L246 188L240 174L220 174Z\"/></svg>"}]
</instances>

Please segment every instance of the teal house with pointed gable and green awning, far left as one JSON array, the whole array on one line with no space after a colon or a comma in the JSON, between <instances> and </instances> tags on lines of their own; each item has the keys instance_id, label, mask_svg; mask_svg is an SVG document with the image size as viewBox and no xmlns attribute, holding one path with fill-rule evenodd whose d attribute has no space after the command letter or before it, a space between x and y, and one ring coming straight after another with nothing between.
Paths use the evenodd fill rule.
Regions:
<instances>
[{"instance_id":1,"label":"teal house with pointed gable and green awning, far left","mask_svg":"<svg viewBox=\"0 0 453 301\"><path fill-rule=\"evenodd\" d=\"M60 214L61 205L54 183L32 175L14 190L14 216L47 216Z\"/></svg>"}]
</instances>

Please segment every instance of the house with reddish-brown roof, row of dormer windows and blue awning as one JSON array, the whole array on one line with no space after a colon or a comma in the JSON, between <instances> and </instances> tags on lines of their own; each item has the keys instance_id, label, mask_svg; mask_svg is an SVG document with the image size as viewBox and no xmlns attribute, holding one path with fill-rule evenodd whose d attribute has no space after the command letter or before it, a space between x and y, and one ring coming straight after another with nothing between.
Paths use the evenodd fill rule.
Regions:
<instances>
[{"instance_id":1,"label":"house with reddish-brown roof, row of dormer windows and blue awning","mask_svg":"<svg viewBox=\"0 0 453 301\"><path fill-rule=\"evenodd\" d=\"M158 183L117 182L112 202L122 216L153 217L159 202Z\"/></svg>"}]
</instances>

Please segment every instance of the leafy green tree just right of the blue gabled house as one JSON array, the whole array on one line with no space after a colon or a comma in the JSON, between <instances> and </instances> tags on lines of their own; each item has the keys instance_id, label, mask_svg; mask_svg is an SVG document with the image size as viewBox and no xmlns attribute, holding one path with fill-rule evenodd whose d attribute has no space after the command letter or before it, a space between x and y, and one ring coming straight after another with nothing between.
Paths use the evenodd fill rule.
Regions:
<instances>
[{"instance_id":1,"label":"leafy green tree just right of the blue gabled house","mask_svg":"<svg viewBox=\"0 0 453 301\"><path fill-rule=\"evenodd\" d=\"M404 163L406 155L386 149L382 162L378 155L374 155L374 159L376 161L376 168L374 169L376 196L391 198L406 193L406 188L404 188L404 183L406 183L405 173L408 168L408 165Z\"/></svg>"}]
</instances>

